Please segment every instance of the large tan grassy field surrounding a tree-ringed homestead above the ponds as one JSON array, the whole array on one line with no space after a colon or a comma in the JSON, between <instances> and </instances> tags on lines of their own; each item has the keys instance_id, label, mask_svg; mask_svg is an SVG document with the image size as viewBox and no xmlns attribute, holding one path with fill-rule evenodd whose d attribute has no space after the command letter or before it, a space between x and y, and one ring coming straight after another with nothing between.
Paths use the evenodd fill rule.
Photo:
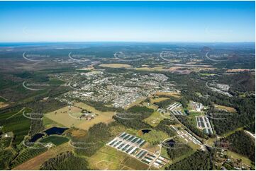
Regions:
<instances>
[{"instance_id":1,"label":"large tan grassy field surrounding a tree-ringed homestead above the ponds","mask_svg":"<svg viewBox=\"0 0 256 171\"><path fill-rule=\"evenodd\" d=\"M98 115L91 120L78 119L78 118L72 117L73 115L81 113L82 112L81 108ZM72 116L70 116L69 114L71 114ZM74 106L72 107L66 106L66 107L60 108L59 110L49 112L48 114L45 114L45 117L47 117L48 119L51 119L54 122L62 124L63 126L67 126L69 128L74 126L78 129L88 130L89 127L99 122L109 123L113 121L112 119L113 115L114 115L114 112L101 112L99 110L96 110L94 107L84 104L83 102L78 102L78 103L75 103Z\"/></svg>"}]
</instances>

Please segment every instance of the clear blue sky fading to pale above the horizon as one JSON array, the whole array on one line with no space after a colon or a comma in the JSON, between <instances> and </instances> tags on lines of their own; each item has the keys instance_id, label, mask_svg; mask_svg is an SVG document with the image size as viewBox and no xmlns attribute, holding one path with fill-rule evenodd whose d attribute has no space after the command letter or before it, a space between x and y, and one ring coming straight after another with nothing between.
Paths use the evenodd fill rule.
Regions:
<instances>
[{"instance_id":1,"label":"clear blue sky fading to pale above the horizon","mask_svg":"<svg viewBox=\"0 0 256 171\"><path fill-rule=\"evenodd\" d=\"M0 42L255 42L255 1L0 1Z\"/></svg>"}]
</instances>

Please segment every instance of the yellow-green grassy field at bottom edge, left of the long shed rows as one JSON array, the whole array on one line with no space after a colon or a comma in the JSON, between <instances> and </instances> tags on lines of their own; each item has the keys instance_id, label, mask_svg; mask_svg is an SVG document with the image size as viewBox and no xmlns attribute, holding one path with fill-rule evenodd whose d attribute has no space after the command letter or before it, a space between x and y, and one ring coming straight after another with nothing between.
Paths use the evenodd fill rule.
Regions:
<instances>
[{"instance_id":1,"label":"yellow-green grassy field at bottom edge, left of the long shed rows","mask_svg":"<svg viewBox=\"0 0 256 171\"><path fill-rule=\"evenodd\" d=\"M115 148L104 146L89 158L93 170L147 170L148 165Z\"/></svg>"}]
</instances>

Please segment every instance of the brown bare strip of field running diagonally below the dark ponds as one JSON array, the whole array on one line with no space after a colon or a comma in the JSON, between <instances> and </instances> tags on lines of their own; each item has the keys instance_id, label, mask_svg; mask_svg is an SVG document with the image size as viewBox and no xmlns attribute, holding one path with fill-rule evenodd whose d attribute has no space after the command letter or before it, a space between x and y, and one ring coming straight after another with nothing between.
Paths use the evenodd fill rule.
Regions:
<instances>
[{"instance_id":1,"label":"brown bare strip of field running diagonally below the dark ponds","mask_svg":"<svg viewBox=\"0 0 256 171\"><path fill-rule=\"evenodd\" d=\"M65 151L72 151L72 147L69 146L68 143L64 143L55 148L50 148L45 153L42 153L35 158L32 158L25 163L14 167L13 170L39 170L40 165L42 165L46 160L48 160L49 158L53 158L55 155Z\"/></svg>"}]
</instances>

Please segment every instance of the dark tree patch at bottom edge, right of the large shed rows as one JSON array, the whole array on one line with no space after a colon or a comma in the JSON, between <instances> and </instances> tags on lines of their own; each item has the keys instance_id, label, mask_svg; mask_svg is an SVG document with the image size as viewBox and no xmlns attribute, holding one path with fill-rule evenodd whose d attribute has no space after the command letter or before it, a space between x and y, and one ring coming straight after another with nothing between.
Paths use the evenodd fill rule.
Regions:
<instances>
[{"instance_id":1,"label":"dark tree patch at bottom edge, right of the large shed rows","mask_svg":"<svg viewBox=\"0 0 256 171\"><path fill-rule=\"evenodd\" d=\"M207 151L196 151L188 158L169 165L165 170L210 170L211 161Z\"/></svg>"}]
</instances>

